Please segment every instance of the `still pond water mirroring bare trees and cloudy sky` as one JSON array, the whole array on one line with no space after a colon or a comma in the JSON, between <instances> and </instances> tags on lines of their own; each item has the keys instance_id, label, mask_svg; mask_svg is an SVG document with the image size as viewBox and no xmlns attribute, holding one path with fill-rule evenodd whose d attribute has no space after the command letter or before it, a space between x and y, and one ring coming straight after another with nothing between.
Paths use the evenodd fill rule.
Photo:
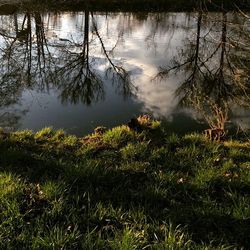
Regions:
<instances>
[{"instance_id":1,"label":"still pond water mirroring bare trees and cloudy sky","mask_svg":"<svg viewBox=\"0 0 250 250\"><path fill-rule=\"evenodd\" d=\"M171 132L250 129L242 13L0 16L0 126L84 135L133 116Z\"/></svg>"}]
</instances>

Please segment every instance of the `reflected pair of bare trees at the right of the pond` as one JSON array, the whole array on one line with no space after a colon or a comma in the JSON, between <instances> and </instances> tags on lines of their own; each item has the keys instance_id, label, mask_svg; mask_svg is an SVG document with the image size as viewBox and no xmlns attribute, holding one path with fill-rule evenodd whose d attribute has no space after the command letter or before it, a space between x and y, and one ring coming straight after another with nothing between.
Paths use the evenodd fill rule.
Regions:
<instances>
[{"instance_id":1,"label":"reflected pair of bare trees at the right of the pond","mask_svg":"<svg viewBox=\"0 0 250 250\"><path fill-rule=\"evenodd\" d=\"M244 56L247 47L235 39L245 26L242 18L233 22L235 15L199 11L195 39L180 54L184 60L175 58L170 67L158 74L166 77L171 72L184 73L177 89L180 103L199 111L211 128L223 130L234 104L250 106L250 61Z\"/></svg>"}]
</instances>

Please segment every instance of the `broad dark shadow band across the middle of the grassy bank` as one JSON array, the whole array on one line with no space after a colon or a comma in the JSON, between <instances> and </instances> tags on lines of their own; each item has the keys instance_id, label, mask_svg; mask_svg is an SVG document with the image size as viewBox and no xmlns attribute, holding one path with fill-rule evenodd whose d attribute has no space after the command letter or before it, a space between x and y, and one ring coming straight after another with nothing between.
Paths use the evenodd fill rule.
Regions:
<instances>
[{"instance_id":1,"label":"broad dark shadow band across the middle of the grassy bank","mask_svg":"<svg viewBox=\"0 0 250 250\"><path fill-rule=\"evenodd\" d=\"M80 232L96 230L106 239L114 236L115 230L134 224L141 230L149 227L147 242L153 242L160 225L171 221L185 226L196 244L213 242L214 246L230 244L247 249L249 182L243 182L240 174L221 175L229 169L225 169L227 159L218 166L210 166L208 161L200 168L206 171L210 166L213 176L203 181L197 177L199 162L204 163L206 157L225 158L227 149L200 139L177 137L157 148L138 149L133 157L124 154L129 147L123 143L122 149L102 150L93 157L86 145L78 143L65 146L32 136L23 142L7 138L0 143L0 171L25 180L26 187L18 200L21 214L33 211L25 217L27 227L35 220L40 226L43 220L47 226L69 221L77 224ZM201 150L207 153L197 159ZM241 159L249 160L247 155ZM54 195L46 198L48 183L56 185L51 188ZM55 187L60 185L57 190ZM43 187L45 196L40 198ZM60 212L55 213L57 202L62 204ZM138 219L136 213L142 217ZM157 235L164 240L159 232Z\"/></svg>"}]
</instances>

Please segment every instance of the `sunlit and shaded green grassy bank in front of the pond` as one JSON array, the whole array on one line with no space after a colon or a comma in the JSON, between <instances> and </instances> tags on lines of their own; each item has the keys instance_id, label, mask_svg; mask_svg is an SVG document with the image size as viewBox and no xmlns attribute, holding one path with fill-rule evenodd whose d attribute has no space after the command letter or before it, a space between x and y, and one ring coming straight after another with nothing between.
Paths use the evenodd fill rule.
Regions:
<instances>
[{"instance_id":1,"label":"sunlit and shaded green grassy bank in front of the pond","mask_svg":"<svg viewBox=\"0 0 250 250\"><path fill-rule=\"evenodd\" d=\"M144 125L1 132L0 249L249 249L249 142Z\"/></svg>"}]
</instances>

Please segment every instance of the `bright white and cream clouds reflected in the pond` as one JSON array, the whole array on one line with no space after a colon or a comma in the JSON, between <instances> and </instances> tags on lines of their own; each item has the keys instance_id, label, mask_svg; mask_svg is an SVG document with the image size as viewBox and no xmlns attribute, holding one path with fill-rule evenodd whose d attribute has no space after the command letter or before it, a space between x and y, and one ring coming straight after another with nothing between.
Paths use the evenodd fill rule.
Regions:
<instances>
[{"instance_id":1,"label":"bright white and cream clouds reflected in the pond","mask_svg":"<svg viewBox=\"0 0 250 250\"><path fill-rule=\"evenodd\" d=\"M72 19L70 13L61 15L59 29L57 27L55 30L57 37L81 41L83 33L79 31L83 29L81 25L83 18L84 13L78 13L75 19ZM178 103L174 94L177 88L176 77L157 82L152 81L152 78L157 74L158 66L168 64L173 53L176 53L176 46L181 46L183 43L185 33L182 27L187 25L189 19L185 14L166 15L159 23L154 18L154 15L150 15L147 20L137 23L133 16L113 16L112 22L107 20L105 15L95 16L98 32L105 41L107 51L116 47L113 63L124 64L132 76L133 83L137 87L137 92L134 94L137 101L143 104L142 112L169 118ZM166 20L171 20L175 25L166 28L168 23ZM150 49L151 46L145 43L148 37L152 43L157 44L157 51ZM94 60L91 61L96 64L96 72L99 71L102 75L101 72L104 72L108 65L107 61L101 59L102 53L97 49L97 41L94 39L90 43L90 50L94 52Z\"/></svg>"}]
</instances>

